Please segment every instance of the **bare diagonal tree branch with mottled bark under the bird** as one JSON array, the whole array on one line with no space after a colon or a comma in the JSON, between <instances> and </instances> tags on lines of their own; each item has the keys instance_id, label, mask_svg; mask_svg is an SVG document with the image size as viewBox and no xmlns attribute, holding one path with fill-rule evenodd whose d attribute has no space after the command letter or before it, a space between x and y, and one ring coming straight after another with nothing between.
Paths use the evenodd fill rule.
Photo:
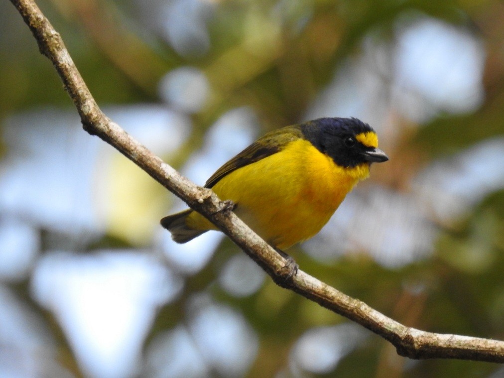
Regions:
<instances>
[{"instance_id":1,"label":"bare diagonal tree branch with mottled bark under the bird","mask_svg":"<svg viewBox=\"0 0 504 378\"><path fill-rule=\"evenodd\" d=\"M105 116L79 74L60 35L54 30L32 0L11 0L65 85L84 130L97 135L146 171L170 192L200 212L245 253L256 261L280 286L293 290L319 303L390 341L398 354L409 358L458 358L504 362L504 342L468 336L435 334L406 327L364 302L349 297L335 288L299 270L286 280L286 261L248 228L209 189L195 185L152 154L115 122Z\"/></svg>"}]
</instances>

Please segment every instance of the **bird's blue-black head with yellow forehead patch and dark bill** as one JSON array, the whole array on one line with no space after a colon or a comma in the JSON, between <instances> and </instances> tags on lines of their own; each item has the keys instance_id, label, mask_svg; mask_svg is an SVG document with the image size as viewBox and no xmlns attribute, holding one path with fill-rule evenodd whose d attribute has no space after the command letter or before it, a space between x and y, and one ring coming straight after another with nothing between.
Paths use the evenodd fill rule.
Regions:
<instances>
[{"instance_id":1,"label":"bird's blue-black head with yellow forehead patch and dark bill","mask_svg":"<svg viewBox=\"0 0 504 378\"><path fill-rule=\"evenodd\" d=\"M300 127L304 138L339 166L353 168L389 160L378 148L374 130L357 118L319 118Z\"/></svg>"}]
</instances>

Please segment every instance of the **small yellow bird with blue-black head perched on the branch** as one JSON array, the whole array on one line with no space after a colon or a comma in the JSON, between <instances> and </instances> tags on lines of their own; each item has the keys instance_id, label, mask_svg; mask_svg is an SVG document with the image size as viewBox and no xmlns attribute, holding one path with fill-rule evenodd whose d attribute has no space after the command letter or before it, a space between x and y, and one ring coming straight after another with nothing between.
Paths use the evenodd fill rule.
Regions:
<instances>
[{"instance_id":1,"label":"small yellow bird with blue-black head perched on the branch","mask_svg":"<svg viewBox=\"0 0 504 378\"><path fill-rule=\"evenodd\" d=\"M274 130L238 153L207 180L234 213L274 247L296 274L285 249L316 235L346 195L389 157L369 124L326 117ZM177 243L217 230L187 209L161 219Z\"/></svg>"}]
</instances>

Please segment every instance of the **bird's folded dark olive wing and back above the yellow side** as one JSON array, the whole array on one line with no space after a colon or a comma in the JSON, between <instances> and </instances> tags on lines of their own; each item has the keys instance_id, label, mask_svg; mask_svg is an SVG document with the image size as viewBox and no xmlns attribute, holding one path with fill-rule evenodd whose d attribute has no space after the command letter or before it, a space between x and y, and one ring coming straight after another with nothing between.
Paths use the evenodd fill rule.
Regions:
<instances>
[{"instance_id":1,"label":"bird's folded dark olive wing and back above the yellow side","mask_svg":"<svg viewBox=\"0 0 504 378\"><path fill-rule=\"evenodd\" d=\"M282 151L290 142L301 138L303 138L303 134L298 125L287 126L264 135L217 169L212 177L207 180L205 187L211 188L222 177L232 171L276 154Z\"/></svg>"}]
</instances>

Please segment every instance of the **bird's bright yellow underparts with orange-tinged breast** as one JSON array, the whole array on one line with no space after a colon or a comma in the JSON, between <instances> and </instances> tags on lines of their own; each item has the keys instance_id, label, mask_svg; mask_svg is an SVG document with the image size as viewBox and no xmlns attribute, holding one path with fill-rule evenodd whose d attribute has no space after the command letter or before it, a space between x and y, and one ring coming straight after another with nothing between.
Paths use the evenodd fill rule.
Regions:
<instances>
[{"instance_id":1,"label":"bird's bright yellow underparts with orange-tinged breast","mask_svg":"<svg viewBox=\"0 0 504 378\"><path fill-rule=\"evenodd\" d=\"M280 249L306 240L327 223L353 186L369 175L369 165L336 165L311 143L296 140L282 151L230 172L212 190L232 200L235 213ZM193 212L195 229L215 229Z\"/></svg>"}]
</instances>

